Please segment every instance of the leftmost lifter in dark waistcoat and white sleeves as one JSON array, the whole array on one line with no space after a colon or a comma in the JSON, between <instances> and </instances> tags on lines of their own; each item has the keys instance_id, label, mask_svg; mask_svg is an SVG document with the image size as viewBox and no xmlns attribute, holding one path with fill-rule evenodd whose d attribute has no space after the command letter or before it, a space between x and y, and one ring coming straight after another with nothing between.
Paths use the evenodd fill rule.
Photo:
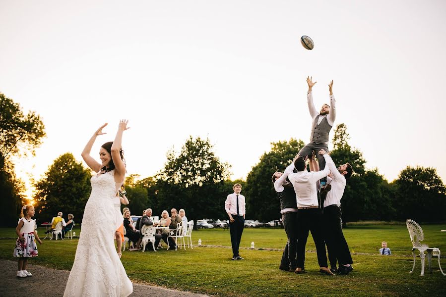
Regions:
<instances>
[{"instance_id":1,"label":"leftmost lifter in dark waistcoat and white sleeves","mask_svg":"<svg viewBox=\"0 0 446 297\"><path fill-rule=\"evenodd\" d=\"M286 179L294 170L294 161L299 157L296 155L291 165L285 171L274 172L272 182L274 190L280 201L280 213L282 214L282 225L285 229L288 241L283 250L279 269L294 272L296 270L296 245L297 245L297 202L293 185Z\"/></svg>"}]
</instances>

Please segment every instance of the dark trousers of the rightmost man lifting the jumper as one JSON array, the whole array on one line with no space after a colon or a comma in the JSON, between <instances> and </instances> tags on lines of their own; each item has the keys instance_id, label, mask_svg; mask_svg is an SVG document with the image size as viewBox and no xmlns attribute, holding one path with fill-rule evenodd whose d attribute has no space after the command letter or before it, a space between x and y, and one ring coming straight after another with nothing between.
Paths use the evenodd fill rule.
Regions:
<instances>
[{"instance_id":1,"label":"dark trousers of the rightmost man lifting the jumper","mask_svg":"<svg viewBox=\"0 0 446 297\"><path fill-rule=\"evenodd\" d=\"M330 265L335 266L336 259L339 265L352 264L352 256L342 233L341 209L337 205L324 207L323 225Z\"/></svg>"}]
</instances>

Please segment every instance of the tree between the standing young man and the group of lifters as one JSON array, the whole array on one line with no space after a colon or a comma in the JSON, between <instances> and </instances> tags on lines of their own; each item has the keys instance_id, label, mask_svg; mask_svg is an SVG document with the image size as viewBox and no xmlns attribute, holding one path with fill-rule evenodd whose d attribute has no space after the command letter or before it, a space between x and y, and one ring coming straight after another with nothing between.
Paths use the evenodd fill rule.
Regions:
<instances>
[{"instance_id":1,"label":"tree between the standing young man and the group of lifters","mask_svg":"<svg viewBox=\"0 0 446 297\"><path fill-rule=\"evenodd\" d=\"M280 204L271 182L276 171L283 171L303 148L302 140L290 139L271 143L271 150L263 153L246 179L247 215L263 221L280 217Z\"/></svg>"}]
</instances>

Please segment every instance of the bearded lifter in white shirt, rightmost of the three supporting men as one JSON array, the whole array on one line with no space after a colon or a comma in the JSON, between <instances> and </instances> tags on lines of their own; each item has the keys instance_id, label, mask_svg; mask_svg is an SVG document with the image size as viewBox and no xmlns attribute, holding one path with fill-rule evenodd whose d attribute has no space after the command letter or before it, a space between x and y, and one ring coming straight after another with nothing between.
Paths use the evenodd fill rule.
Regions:
<instances>
[{"instance_id":1,"label":"bearded lifter in white shirt, rightmost of the three supporting men","mask_svg":"<svg viewBox=\"0 0 446 297\"><path fill-rule=\"evenodd\" d=\"M319 151L320 155L324 156L326 166L331 172L330 176L332 176L332 178L328 177L331 190L326 193L326 198L323 202L323 226L328 256L330 258L334 256L337 259L339 268L336 269L336 266L334 266L330 270L346 275L353 270L351 265L353 260L342 232L340 206L347 180L352 176L353 168L350 163L345 163L336 168L331 157L323 149ZM334 255L331 255L331 253L334 253Z\"/></svg>"}]
</instances>

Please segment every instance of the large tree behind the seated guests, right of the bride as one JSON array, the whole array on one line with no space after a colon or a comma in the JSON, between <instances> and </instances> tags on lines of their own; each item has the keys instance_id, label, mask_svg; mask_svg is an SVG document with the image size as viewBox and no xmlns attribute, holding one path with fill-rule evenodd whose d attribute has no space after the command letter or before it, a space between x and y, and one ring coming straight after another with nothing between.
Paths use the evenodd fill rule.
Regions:
<instances>
[{"instance_id":1,"label":"large tree behind the seated guests, right of the bride","mask_svg":"<svg viewBox=\"0 0 446 297\"><path fill-rule=\"evenodd\" d=\"M157 211L185 208L188 219L217 218L224 215L224 181L229 177L228 163L212 151L209 139L190 137L178 156L171 149L167 162L157 174ZM158 213L157 212L157 213Z\"/></svg>"}]
</instances>

